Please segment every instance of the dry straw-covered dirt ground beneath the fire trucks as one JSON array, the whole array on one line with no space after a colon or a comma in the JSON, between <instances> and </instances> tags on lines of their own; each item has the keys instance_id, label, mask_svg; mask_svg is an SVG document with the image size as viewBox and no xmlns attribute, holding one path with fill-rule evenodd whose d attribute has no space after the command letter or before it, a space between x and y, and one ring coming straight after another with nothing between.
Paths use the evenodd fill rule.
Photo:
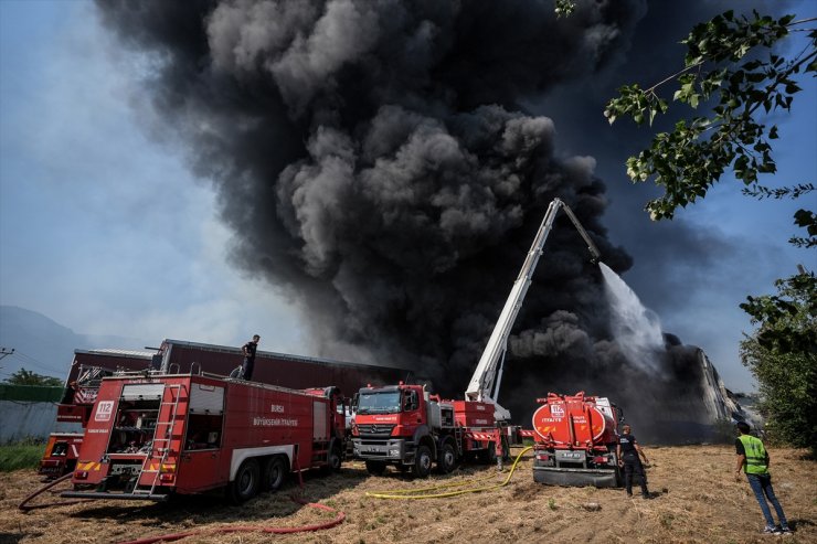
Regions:
<instances>
[{"instance_id":1,"label":"dry straw-covered dirt ground beneath the fire trucks","mask_svg":"<svg viewBox=\"0 0 817 544\"><path fill-rule=\"evenodd\" d=\"M795 529L792 536L760 534L763 518L745 479L734 480L734 450L728 446L647 447L650 491L645 501L627 499L620 489L561 488L533 482L531 459L523 457L505 487L450 498L394 500L367 497L442 483L486 487L508 471L468 466L428 480L411 480L390 469L370 477L362 463L346 463L340 473L308 474L304 497L344 513L339 525L307 533L269 534L225 530L304 526L338 516L293 502L293 479L275 494L243 506L217 497L184 497L155 504L140 501L93 501L38 508L18 505L41 483L33 471L0 473L0 543L112 543L194 531L183 543L392 543L392 542L590 542L590 543L753 543L784 538L817 543L817 478L805 450L774 449L774 488ZM62 487L63 484L61 484ZM59 488L55 488L59 489ZM449 491L463 488L445 488ZM32 504L60 501L43 493Z\"/></svg>"}]
</instances>

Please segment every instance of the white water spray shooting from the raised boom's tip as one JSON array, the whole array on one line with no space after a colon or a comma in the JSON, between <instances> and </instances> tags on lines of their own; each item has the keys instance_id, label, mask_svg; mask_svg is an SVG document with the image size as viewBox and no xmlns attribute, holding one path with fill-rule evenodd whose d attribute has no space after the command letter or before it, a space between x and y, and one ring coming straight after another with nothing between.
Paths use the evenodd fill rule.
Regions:
<instances>
[{"instance_id":1,"label":"white water spray shooting from the raised boom's tip","mask_svg":"<svg viewBox=\"0 0 817 544\"><path fill-rule=\"evenodd\" d=\"M611 306L611 330L624 355L639 369L656 373L664 352L661 322L607 265L600 263L604 292Z\"/></svg>"}]
</instances>

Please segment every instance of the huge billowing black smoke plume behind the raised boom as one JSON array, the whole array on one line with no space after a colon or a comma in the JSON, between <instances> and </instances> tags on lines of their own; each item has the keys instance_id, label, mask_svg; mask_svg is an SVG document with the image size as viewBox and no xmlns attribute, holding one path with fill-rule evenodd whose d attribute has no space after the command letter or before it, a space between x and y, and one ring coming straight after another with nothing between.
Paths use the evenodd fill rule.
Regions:
<instances>
[{"instance_id":1,"label":"huge billowing black smoke plume behind the raised boom","mask_svg":"<svg viewBox=\"0 0 817 544\"><path fill-rule=\"evenodd\" d=\"M151 128L180 136L212 181L233 262L296 302L319 355L415 369L459 396L553 198L605 264L632 266L603 226L595 160L558 156L558 127L521 104L620 61L643 0L579 2L565 19L520 0L98 8L147 54ZM513 330L500 401L517 415L554 390L645 410L696 394L678 385L700 377L689 350L668 351L676 372L644 394L564 217Z\"/></svg>"}]
</instances>

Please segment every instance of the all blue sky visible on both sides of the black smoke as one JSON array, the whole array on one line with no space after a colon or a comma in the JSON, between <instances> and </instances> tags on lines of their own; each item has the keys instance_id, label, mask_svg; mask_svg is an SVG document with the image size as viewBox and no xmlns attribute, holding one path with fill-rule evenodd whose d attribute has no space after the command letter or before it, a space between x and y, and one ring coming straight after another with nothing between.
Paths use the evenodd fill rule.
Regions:
<instances>
[{"instance_id":1,"label":"all blue sky visible on both sides of the black smoke","mask_svg":"<svg viewBox=\"0 0 817 544\"><path fill-rule=\"evenodd\" d=\"M140 70L117 54L89 2L0 1L0 303L78 333L130 337L134 346L162 338L240 345L258 332L265 350L311 354L296 310L227 264L231 235L206 182L182 163L183 145L146 134L136 114L144 109L132 107ZM779 175L817 179L815 127L810 85L781 118ZM565 152L593 154L579 140L570 146ZM620 163L597 171L628 183ZM715 234L722 247L700 266L667 266L624 226L643 202L613 202L611 238L636 262L624 279L665 330L707 351L729 387L751 388L738 359L751 324L738 305L772 292L797 263L814 268L814 252L786 244L796 233L792 213L805 203L756 202L721 183L677 221ZM680 292L652 287L659 265L678 276Z\"/></svg>"}]
</instances>

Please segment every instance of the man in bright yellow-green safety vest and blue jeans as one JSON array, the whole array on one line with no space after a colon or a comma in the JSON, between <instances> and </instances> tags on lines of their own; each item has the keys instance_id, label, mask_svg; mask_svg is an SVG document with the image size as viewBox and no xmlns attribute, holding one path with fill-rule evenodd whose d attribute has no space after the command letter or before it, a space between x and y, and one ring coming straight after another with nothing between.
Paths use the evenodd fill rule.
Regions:
<instances>
[{"instance_id":1,"label":"man in bright yellow-green safety vest and blue jeans","mask_svg":"<svg viewBox=\"0 0 817 544\"><path fill-rule=\"evenodd\" d=\"M788 529L788 522L786 521L786 514L783 513L783 506L777 501L777 497L775 497L774 489L772 488L772 474L768 473L768 451L766 451L760 438L749 434L749 424L740 422L738 424L738 430L740 436L734 441L738 454L735 481L741 480L741 470L743 470L746 473L746 479L752 491L754 491L755 499L761 504L763 518L766 519L764 533L792 534L792 531ZM781 522L779 527L776 527L774 524L774 518L772 518L772 512L768 510L766 499L768 499L768 502L772 503L775 512L777 512L777 520Z\"/></svg>"}]
</instances>

